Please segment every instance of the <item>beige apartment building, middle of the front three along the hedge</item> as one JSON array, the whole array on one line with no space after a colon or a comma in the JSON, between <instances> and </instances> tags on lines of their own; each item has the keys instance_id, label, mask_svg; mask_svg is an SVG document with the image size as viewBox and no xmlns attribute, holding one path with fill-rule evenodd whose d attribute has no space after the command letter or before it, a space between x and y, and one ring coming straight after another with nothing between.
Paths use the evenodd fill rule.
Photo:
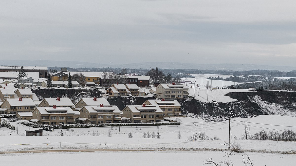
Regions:
<instances>
[{"instance_id":1,"label":"beige apartment building, middle of the front three along the hedge","mask_svg":"<svg viewBox=\"0 0 296 166\"><path fill-rule=\"evenodd\" d=\"M100 106L83 106L78 121L81 123L120 123L121 111L117 106L103 105Z\"/></svg>"}]
</instances>

